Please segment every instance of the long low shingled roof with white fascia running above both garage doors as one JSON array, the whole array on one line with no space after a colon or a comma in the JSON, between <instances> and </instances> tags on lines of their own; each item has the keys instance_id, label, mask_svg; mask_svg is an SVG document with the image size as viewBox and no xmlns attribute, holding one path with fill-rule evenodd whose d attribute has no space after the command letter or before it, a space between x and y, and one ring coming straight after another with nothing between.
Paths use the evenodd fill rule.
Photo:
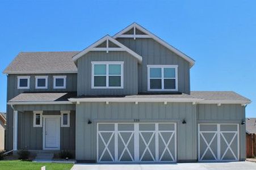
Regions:
<instances>
[{"instance_id":1,"label":"long low shingled roof with white fascia running above both garage doors","mask_svg":"<svg viewBox=\"0 0 256 170\"><path fill-rule=\"evenodd\" d=\"M232 91L191 91L187 94L139 94L128 96L78 96L69 99L75 102L192 102L199 104L249 104L251 101Z\"/></svg>"}]
</instances>

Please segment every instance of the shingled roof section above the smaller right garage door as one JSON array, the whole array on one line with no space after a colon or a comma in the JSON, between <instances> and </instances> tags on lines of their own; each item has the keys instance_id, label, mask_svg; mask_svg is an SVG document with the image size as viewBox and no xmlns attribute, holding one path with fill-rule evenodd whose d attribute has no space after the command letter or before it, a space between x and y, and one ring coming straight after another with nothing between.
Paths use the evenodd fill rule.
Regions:
<instances>
[{"instance_id":1,"label":"shingled roof section above the smaller right garage door","mask_svg":"<svg viewBox=\"0 0 256 170\"><path fill-rule=\"evenodd\" d=\"M244 103L249 104L251 101L233 91L191 91L191 95L205 100L205 103Z\"/></svg>"}]
</instances>

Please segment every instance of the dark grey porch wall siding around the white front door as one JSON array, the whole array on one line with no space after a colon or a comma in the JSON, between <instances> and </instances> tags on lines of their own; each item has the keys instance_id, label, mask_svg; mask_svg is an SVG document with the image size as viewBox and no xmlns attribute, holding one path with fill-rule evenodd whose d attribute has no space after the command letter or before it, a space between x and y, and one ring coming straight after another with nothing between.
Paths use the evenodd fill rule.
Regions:
<instances>
[{"instance_id":1,"label":"dark grey porch wall siding around the white front door","mask_svg":"<svg viewBox=\"0 0 256 170\"><path fill-rule=\"evenodd\" d=\"M44 111L43 115L60 115L60 111ZM33 112L18 113L18 150L43 150L43 127L33 127ZM60 149L75 150L75 112L70 112L70 127L60 129Z\"/></svg>"}]
</instances>

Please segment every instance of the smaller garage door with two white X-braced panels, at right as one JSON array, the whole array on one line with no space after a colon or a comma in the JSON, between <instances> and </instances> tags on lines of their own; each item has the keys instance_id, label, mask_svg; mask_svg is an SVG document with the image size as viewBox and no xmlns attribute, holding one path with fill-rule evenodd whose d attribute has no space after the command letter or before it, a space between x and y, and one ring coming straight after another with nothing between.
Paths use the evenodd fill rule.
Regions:
<instances>
[{"instance_id":1,"label":"smaller garage door with two white X-braced panels, at right","mask_svg":"<svg viewBox=\"0 0 256 170\"><path fill-rule=\"evenodd\" d=\"M239 160L238 124L199 124L199 161Z\"/></svg>"}]
</instances>

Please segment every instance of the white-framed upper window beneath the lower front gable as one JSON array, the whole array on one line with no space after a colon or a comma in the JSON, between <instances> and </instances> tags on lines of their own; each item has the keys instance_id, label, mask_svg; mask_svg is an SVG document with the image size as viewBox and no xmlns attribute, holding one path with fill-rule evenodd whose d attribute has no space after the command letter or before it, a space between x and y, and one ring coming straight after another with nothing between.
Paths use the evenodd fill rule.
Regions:
<instances>
[{"instance_id":1,"label":"white-framed upper window beneath the lower front gable","mask_svg":"<svg viewBox=\"0 0 256 170\"><path fill-rule=\"evenodd\" d=\"M92 88L123 88L124 62L91 62Z\"/></svg>"}]
</instances>

